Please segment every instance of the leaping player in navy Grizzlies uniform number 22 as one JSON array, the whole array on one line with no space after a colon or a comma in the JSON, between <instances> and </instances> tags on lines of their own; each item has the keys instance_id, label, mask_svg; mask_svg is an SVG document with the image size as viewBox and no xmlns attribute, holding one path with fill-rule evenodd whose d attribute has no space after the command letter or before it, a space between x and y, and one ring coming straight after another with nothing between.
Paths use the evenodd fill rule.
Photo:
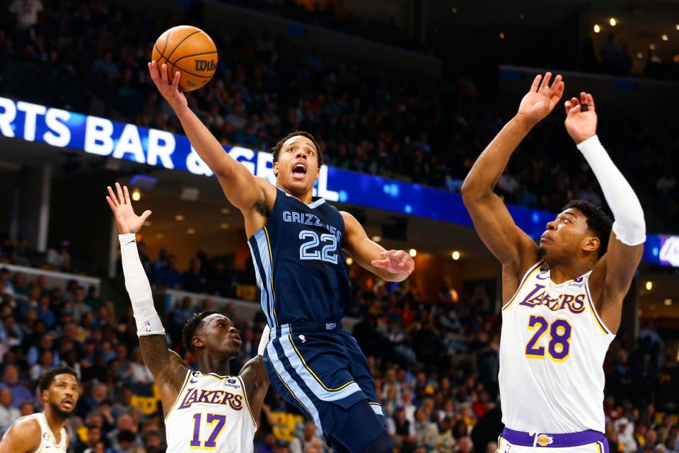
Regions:
<instances>
[{"instance_id":1,"label":"leaping player in navy Grizzlies uniform number 22","mask_svg":"<svg viewBox=\"0 0 679 453\"><path fill-rule=\"evenodd\" d=\"M312 197L323 154L311 134L293 132L277 143L277 185L271 185L226 154L187 107L178 90L179 73L170 84L166 65L151 62L149 70L193 147L245 219L262 310L272 331L265 355L272 385L313 419L336 452L391 452L366 358L342 330L351 302L342 249L389 281L405 280L414 261L405 251L385 251L351 214Z\"/></svg>"}]
</instances>

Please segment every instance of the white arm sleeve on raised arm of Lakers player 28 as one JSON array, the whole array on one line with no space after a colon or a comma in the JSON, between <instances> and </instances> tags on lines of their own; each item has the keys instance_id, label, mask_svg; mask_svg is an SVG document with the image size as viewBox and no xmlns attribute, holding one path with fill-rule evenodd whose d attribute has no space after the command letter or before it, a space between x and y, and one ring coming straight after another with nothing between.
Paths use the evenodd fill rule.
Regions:
<instances>
[{"instance_id":1,"label":"white arm sleeve on raised arm of Lakers player 28","mask_svg":"<svg viewBox=\"0 0 679 453\"><path fill-rule=\"evenodd\" d=\"M646 241L646 222L639 198L622 176L610 156L594 135L578 144L599 181L603 196L613 212L613 233L618 241L627 246L638 246Z\"/></svg>"}]
</instances>

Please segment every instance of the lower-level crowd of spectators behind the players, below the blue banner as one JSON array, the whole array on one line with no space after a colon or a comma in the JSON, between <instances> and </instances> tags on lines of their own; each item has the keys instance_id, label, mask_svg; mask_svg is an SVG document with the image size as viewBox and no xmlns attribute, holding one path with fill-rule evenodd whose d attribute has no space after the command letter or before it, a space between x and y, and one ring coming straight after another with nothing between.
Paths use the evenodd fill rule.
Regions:
<instances>
[{"instance_id":1,"label":"lower-level crowd of spectators behind the players, below the blue banner","mask_svg":"<svg viewBox=\"0 0 679 453\"><path fill-rule=\"evenodd\" d=\"M498 398L499 315L475 291L452 303L423 302L414 289L387 285L356 289L353 335L376 379L388 430L401 453L492 453L501 430ZM79 373L83 393L67 425L71 451L162 452L164 426L153 379L141 361L136 325L127 300L116 304L95 289L68 282L47 287L0 270L0 433L21 415L41 410L35 386L56 365ZM170 348L189 367L195 359L181 345L180 328L210 299L190 298L165 317ZM224 314L243 337L232 373L256 354L265 319ZM654 326L643 326L637 348L620 333L605 361L606 430L611 451L679 451L679 368ZM657 412L656 412L657 411ZM313 424L269 391L255 437L257 453L327 453Z\"/></svg>"}]
</instances>

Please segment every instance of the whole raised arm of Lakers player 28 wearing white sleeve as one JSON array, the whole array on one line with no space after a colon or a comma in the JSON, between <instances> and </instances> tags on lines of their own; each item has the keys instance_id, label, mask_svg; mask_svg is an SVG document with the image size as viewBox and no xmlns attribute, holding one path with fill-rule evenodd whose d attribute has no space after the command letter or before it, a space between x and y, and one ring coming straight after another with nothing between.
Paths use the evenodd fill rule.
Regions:
<instances>
[{"instance_id":1,"label":"whole raised arm of Lakers player 28 wearing white sleeve","mask_svg":"<svg viewBox=\"0 0 679 453\"><path fill-rule=\"evenodd\" d=\"M613 212L608 252L594 266L589 282L601 320L610 331L616 332L622 316L622 299L644 252L644 210L634 189L596 136L597 116L592 95L580 93L579 100L566 101L566 114L566 130L592 168Z\"/></svg>"}]
</instances>

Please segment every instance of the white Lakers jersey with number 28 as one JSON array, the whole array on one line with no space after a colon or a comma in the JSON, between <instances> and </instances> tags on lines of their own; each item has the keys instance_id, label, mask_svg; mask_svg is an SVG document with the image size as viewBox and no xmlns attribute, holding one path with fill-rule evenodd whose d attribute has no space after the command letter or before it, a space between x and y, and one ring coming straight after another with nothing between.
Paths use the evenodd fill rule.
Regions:
<instances>
[{"instance_id":1,"label":"white Lakers jersey with number 28","mask_svg":"<svg viewBox=\"0 0 679 453\"><path fill-rule=\"evenodd\" d=\"M614 335L589 292L591 271L560 285L540 261L502 307L502 423L523 432L604 432L603 360Z\"/></svg>"}]
</instances>

